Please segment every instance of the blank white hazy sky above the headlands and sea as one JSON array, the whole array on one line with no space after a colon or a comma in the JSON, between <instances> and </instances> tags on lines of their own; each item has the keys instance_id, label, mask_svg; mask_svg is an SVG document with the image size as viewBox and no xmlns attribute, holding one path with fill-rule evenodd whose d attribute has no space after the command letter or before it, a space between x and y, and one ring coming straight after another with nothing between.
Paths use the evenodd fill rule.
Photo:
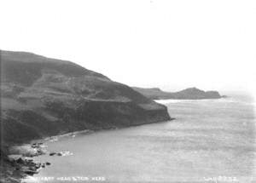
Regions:
<instances>
[{"instance_id":1,"label":"blank white hazy sky above the headlands and sea","mask_svg":"<svg viewBox=\"0 0 256 183\"><path fill-rule=\"evenodd\" d=\"M256 83L256 1L0 0L0 49L72 60L120 83Z\"/></svg>"}]
</instances>

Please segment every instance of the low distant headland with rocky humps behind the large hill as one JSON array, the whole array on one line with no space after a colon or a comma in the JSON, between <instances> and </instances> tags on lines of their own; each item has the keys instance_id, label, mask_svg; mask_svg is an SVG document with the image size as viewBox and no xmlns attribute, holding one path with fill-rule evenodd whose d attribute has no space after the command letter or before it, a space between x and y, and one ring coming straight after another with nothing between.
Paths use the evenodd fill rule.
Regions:
<instances>
[{"instance_id":1,"label":"low distant headland with rocky humps behind the large hill","mask_svg":"<svg viewBox=\"0 0 256 183\"><path fill-rule=\"evenodd\" d=\"M153 100L202 100L220 99L222 97L217 91L203 91L196 88L183 89L179 92L165 92L157 88L143 89L133 87L133 89Z\"/></svg>"}]
</instances>

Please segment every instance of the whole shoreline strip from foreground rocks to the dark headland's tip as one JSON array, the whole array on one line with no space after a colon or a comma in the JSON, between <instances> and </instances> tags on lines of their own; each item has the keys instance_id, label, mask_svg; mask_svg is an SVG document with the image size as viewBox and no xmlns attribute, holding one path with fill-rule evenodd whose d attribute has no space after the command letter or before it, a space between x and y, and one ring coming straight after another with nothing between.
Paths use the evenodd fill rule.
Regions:
<instances>
[{"instance_id":1,"label":"whole shoreline strip from foreground rocks to the dark headland's tip","mask_svg":"<svg viewBox=\"0 0 256 183\"><path fill-rule=\"evenodd\" d=\"M171 117L172 121L175 118ZM151 123L165 123L167 121L160 122L151 122ZM37 162L33 157L38 157L41 155L48 154L49 156L69 156L72 155L70 152L49 152L45 142L54 142L56 140L61 140L62 138L75 137L77 135L87 135L94 134L102 131L116 130L116 129L129 129L137 126L142 126L151 123L138 123L127 127L120 128L110 128L110 129L97 129L90 130L84 129L74 132L68 132L66 134L57 134L49 137L44 137L42 139L30 140L21 145L9 146L8 162L11 163L11 166L7 166L7 171L15 171L15 176L9 175L7 177L1 178L1 181L4 182L26 182L28 177L32 177L33 174L38 174L40 169L47 169L47 166L50 166L50 162ZM47 166L46 166L47 165Z\"/></svg>"}]
</instances>

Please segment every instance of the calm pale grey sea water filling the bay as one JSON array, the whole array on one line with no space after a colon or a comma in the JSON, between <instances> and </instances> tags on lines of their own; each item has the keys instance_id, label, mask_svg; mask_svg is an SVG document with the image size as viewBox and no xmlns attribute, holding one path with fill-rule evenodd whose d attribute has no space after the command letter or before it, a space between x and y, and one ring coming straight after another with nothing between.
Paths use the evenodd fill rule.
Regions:
<instances>
[{"instance_id":1,"label":"calm pale grey sea water filling the bay","mask_svg":"<svg viewBox=\"0 0 256 183\"><path fill-rule=\"evenodd\" d=\"M37 182L79 179L82 182L253 182L255 119L250 100L231 97L159 102L168 106L176 120L47 142L49 152L69 151L73 156L36 157L51 165L34 179Z\"/></svg>"}]
</instances>

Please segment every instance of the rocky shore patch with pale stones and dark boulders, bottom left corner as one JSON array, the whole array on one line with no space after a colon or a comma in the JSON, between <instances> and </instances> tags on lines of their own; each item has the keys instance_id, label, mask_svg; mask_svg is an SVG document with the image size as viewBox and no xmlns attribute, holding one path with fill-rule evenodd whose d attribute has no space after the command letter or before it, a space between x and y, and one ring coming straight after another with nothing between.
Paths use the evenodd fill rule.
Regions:
<instances>
[{"instance_id":1,"label":"rocky shore patch with pale stones and dark boulders, bottom left corner","mask_svg":"<svg viewBox=\"0 0 256 183\"><path fill-rule=\"evenodd\" d=\"M4 174L1 176L0 182L20 183L27 176L38 174L40 169L46 169L51 165L49 162L37 162L33 157L44 154L63 157L73 155L71 152L47 152L46 147L44 142L10 147L9 155L4 159L2 167Z\"/></svg>"}]
</instances>

